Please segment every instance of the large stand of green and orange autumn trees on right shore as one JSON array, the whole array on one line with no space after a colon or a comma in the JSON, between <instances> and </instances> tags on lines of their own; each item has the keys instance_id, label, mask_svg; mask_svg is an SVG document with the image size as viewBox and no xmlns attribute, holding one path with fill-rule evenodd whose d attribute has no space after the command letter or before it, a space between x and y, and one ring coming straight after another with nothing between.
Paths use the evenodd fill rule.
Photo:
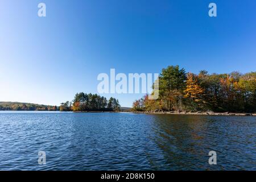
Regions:
<instances>
[{"instance_id":1,"label":"large stand of green and orange autumn trees on right shore","mask_svg":"<svg viewBox=\"0 0 256 182\"><path fill-rule=\"evenodd\" d=\"M133 102L134 111L256 111L256 72L196 75L176 65L162 69L158 81L158 100L146 95Z\"/></svg>"}]
</instances>

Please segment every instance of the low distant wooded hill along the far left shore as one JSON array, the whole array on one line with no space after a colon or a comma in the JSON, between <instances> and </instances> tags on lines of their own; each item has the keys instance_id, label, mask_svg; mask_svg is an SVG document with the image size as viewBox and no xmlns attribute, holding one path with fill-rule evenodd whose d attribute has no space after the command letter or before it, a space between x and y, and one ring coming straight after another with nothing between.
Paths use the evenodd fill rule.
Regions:
<instances>
[{"instance_id":1,"label":"low distant wooded hill along the far left shore","mask_svg":"<svg viewBox=\"0 0 256 182\"><path fill-rule=\"evenodd\" d=\"M59 110L57 106L31 104L25 102L0 102L0 110L40 110L55 111Z\"/></svg>"}]
</instances>

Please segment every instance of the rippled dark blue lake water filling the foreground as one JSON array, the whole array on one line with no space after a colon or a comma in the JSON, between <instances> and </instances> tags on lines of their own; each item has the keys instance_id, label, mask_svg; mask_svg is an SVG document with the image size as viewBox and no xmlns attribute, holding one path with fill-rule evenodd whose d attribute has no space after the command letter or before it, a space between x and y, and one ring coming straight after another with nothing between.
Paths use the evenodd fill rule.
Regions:
<instances>
[{"instance_id":1,"label":"rippled dark blue lake water filling the foreground","mask_svg":"<svg viewBox=\"0 0 256 182\"><path fill-rule=\"evenodd\" d=\"M0 112L0 170L255 170L255 134L250 116Z\"/></svg>"}]
</instances>

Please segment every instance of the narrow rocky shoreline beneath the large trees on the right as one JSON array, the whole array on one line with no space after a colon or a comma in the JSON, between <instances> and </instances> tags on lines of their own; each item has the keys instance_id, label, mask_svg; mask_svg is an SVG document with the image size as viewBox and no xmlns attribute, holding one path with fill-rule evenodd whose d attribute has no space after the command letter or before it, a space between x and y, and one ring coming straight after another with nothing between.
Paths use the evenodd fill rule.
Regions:
<instances>
[{"instance_id":1,"label":"narrow rocky shoreline beneath the large trees on the right","mask_svg":"<svg viewBox=\"0 0 256 182\"><path fill-rule=\"evenodd\" d=\"M155 110L155 111L132 111L133 113L143 113L143 114L187 114L187 115L251 115L256 116L256 113L214 113L212 111L203 112L203 111L197 111L197 112L186 112L186 111L162 111L162 110Z\"/></svg>"}]
</instances>

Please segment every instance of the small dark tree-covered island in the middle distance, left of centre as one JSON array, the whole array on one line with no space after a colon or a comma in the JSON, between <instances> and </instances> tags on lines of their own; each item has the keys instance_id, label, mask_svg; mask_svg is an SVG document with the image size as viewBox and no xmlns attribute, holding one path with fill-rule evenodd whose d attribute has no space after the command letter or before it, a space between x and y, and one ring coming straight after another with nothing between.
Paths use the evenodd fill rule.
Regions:
<instances>
[{"instance_id":1,"label":"small dark tree-covered island in the middle distance, left of centre","mask_svg":"<svg viewBox=\"0 0 256 182\"><path fill-rule=\"evenodd\" d=\"M120 111L119 101L113 97L109 100L98 94L77 93L72 102L64 102L60 105L60 111Z\"/></svg>"}]
</instances>

